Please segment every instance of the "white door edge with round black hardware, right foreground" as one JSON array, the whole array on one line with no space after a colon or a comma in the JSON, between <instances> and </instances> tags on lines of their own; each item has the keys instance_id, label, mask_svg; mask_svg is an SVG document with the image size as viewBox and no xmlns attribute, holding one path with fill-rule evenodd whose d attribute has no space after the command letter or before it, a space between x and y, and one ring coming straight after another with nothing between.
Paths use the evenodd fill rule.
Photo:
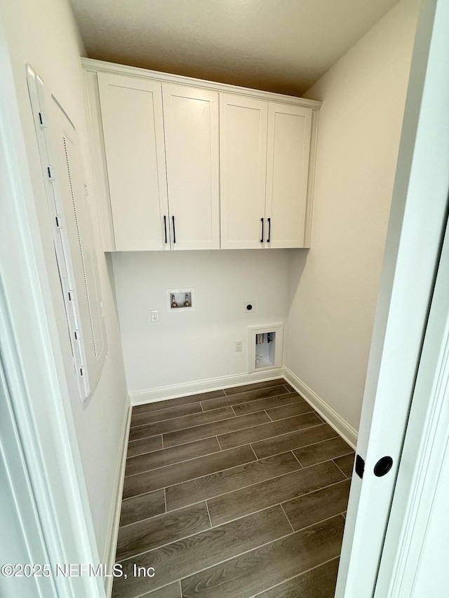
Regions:
<instances>
[{"instance_id":1,"label":"white door edge with round black hardware, right foreground","mask_svg":"<svg viewBox=\"0 0 449 598\"><path fill-rule=\"evenodd\" d=\"M448 2L424 3L358 437L357 454L364 461L364 473L363 479L354 474L351 485L337 598L368 598L375 592L427 327L449 191L449 78L441 76L449 72L448 29ZM387 475L377 477L374 468L384 456L390 456L393 465ZM389 524L394 523L390 519Z\"/></svg>"}]
</instances>

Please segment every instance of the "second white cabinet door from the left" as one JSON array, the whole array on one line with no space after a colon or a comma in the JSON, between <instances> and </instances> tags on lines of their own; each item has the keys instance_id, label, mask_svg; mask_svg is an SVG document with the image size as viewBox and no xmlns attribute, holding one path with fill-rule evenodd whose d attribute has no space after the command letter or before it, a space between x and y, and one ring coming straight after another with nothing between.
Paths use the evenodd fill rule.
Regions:
<instances>
[{"instance_id":1,"label":"second white cabinet door from the left","mask_svg":"<svg viewBox=\"0 0 449 598\"><path fill-rule=\"evenodd\" d=\"M218 249L218 94L168 84L162 93L172 249Z\"/></svg>"}]
</instances>

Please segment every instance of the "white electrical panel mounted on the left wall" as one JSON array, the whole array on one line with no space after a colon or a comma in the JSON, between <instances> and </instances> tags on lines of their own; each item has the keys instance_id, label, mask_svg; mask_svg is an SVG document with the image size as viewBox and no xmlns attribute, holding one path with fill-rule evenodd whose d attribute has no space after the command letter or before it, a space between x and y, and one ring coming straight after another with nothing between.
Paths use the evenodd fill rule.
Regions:
<instances>
[{"instance_id":1,"label":"white electrical panel mounted on the left wall","mask_svg":"<svg viewBox=\"0 0 449 598\"><path fill-rule=\"evenodd\" d=\"M85 402L100 379L107 338L79 137L65 110L29 65L27 83L74 372L79 398Z\"/></svg>"}]
</instances>

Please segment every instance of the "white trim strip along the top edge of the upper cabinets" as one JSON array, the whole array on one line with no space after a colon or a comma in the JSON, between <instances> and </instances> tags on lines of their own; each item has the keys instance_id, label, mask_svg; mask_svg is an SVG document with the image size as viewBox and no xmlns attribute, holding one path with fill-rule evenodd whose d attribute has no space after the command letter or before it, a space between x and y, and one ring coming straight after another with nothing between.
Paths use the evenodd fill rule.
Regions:
<instances>
[{"instance_id":1,"label":"white trim strip along the top edge of the upper cabinets","mask_svg":"<svg viewBox=\"0 0 449 598\"><path fill-rule=\"evenodd\" d=\"M177 85L194 85L196 87L221 91L224 93L239 93L239 95L259 97L262 100L272 100L274 102L286 102L288 104L297 104L315 110L319 110L322 104L322 102L319 102L318 100L308 100L305 97L297 97L295 95L284 95L282 93L274 93L271 91L240 87L235 85L229 85L227 83L217 83L217 81L195 79L194 77L186 77L182 75L174 75L159 71L151 71L148 69L140 69L139 67L128 67L125 64L116 64L115 62L104 62L102 60L95 60L93 58L81 57L81 65L83 69L91 72L132 75L142 77L142 79L156 79L157 81L165 81L166 83L176 83Z\"/></svg>"}]
</instances>

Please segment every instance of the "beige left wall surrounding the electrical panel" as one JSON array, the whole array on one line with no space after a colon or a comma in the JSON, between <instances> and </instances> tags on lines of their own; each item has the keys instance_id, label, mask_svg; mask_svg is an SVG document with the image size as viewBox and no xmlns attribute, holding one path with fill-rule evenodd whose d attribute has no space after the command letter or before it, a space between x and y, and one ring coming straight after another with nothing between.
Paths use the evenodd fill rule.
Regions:
<instances>
[{"instance_id":1,"label":"beige left wall surrounding the electrical panel","mask_svg":"<svg viewBox=\"0 0 449 598\"><path fill-rule=\"evenodd\" d=\"M95 205L83 72L79 60L80 54L83 54L83 46L68 0L39 0L39 2L0 0L0 15L4 22L15 78L15 92L22 120L20 135L25 138L27 161L32 177L33 196L28 200L36 209L50 283L50 288L45 290L48 296L49 327L59 332L58 349L62 351L66 360L68 355L70 361L67 324L65 324L51 222L46 206L36 133L29 103L25 64L31 64L36 73L41 76L46 88L57 97L79 132L84 154L83 162L87 170L89 197ZM98 261L109 356L95 393L86 405L81 405L74 379L70 379L69 376L67 376L69 396L65 396L64 400L66 413L67 410L72 412L70 417L73 419L76 433L74 440L76 446L73 449L79 451L81 456L83 470L81 475L86 482L98 551L100 559L105 562L109 550L107 534L114 509L114 484L116 468L121 456L128 393L119 325L107 264L102 252L98 252ZM46 281L42 281L42 284L45 285ZM55 360L58 361L57 356ZM59 361L61 362L60 358ZM39 397L36 397L36 400L39 400Z\"/></svg>"}]
</instances>

